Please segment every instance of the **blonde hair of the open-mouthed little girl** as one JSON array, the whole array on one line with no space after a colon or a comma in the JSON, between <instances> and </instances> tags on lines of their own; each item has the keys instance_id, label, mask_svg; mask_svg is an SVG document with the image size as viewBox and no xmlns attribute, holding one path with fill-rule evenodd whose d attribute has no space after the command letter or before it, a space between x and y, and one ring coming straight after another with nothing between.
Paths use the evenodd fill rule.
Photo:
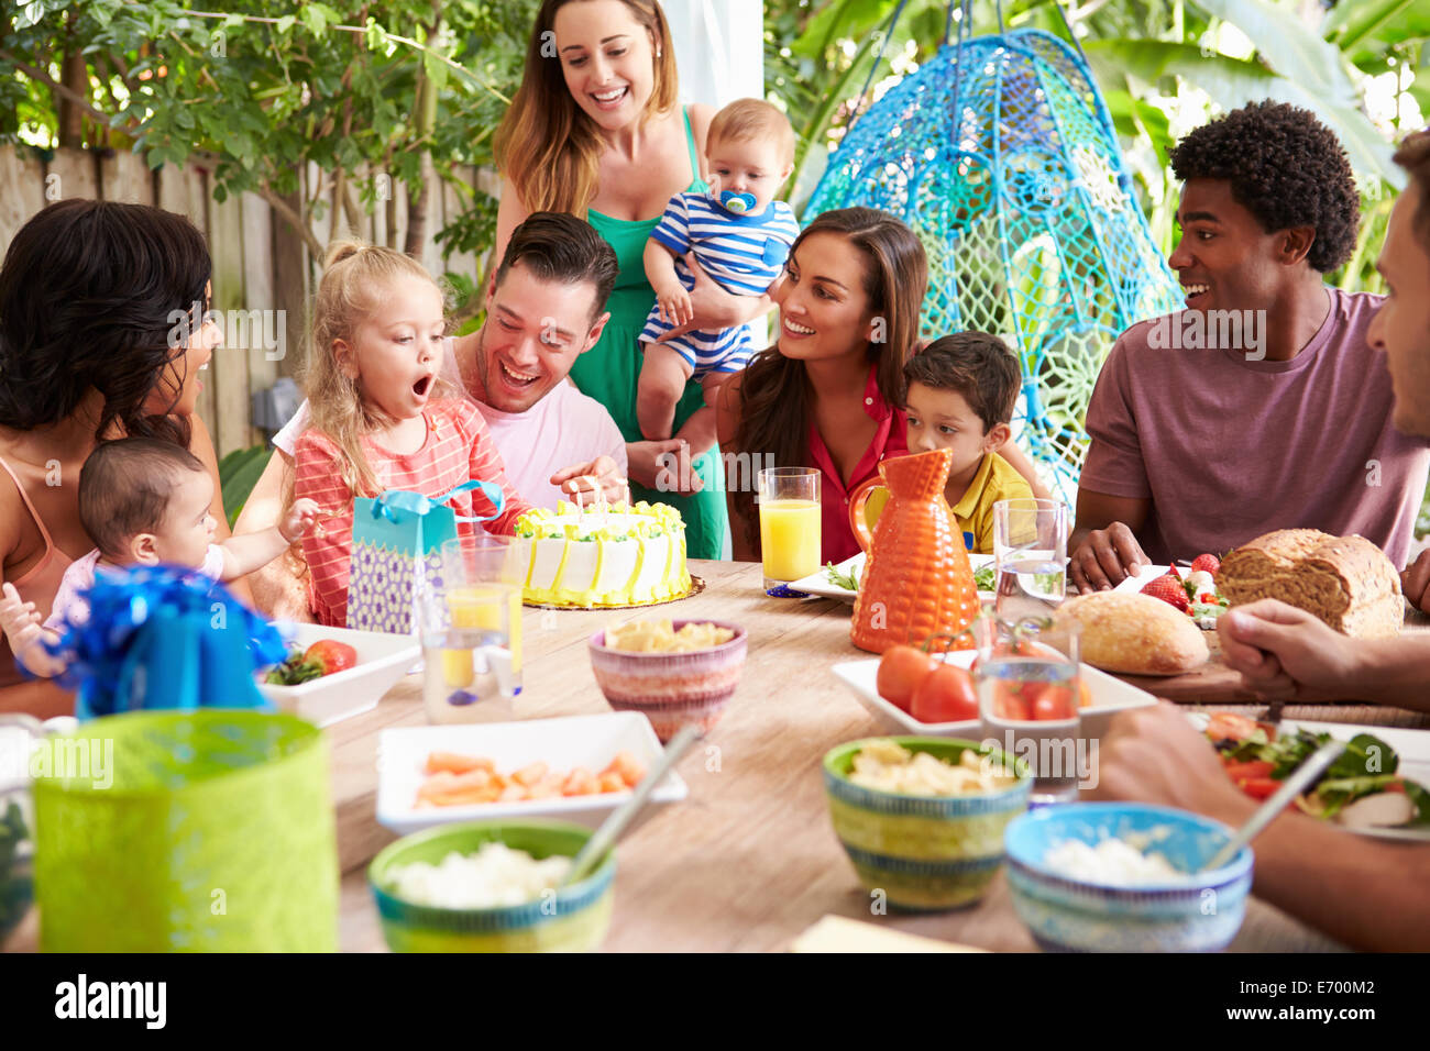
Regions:
<instances>
[{"instance_id":1,"label":"blonde hair of the open-mouthed little girl","mask_svg":"<svg viewBox=\"0 0 1430 1051\"><path fill-rule=\"evenodd\" d=\"M333 343L356 346L358 326L382 300L383 289L398 277L418 277L442 295L422 263L389 247L340 240L329 245L323 277L317 283L309 323L307 362L303 393L307 396L312 428L322 430L343 453L343 483L355 496L382 492L378 476L362 448L362 436L398 420L362 396L358 380L343 375ZM445 300L445 297L443 297ZM440 370L432 378L432 398L453 398L456 388Z\"/></svg>"}]
</instances>

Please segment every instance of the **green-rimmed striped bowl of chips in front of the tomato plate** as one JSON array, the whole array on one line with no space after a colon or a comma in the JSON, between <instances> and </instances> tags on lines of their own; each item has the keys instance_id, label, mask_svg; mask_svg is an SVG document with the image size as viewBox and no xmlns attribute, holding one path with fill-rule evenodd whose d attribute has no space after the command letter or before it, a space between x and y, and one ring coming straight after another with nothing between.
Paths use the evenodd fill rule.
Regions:
<instances>
[{"instance_id":1,"label":"green-rimmed striped bowl of chips in front of the tomato plate","mask_svg":"<svg viewBox=\"0 0 1430 1051\"><path fill-rule=\"evenodd\" d=\"M871 738L872 739L872 738ZM937 911L971 905L1002 867L1002 834L1028 808L1032 776L1014 761L1018 782L985 795L899 795L849 781L855 754L871 739L851 741L824 756L824 786L834 832L867 889L882 891L902 909ZM958 762L972 741L895 736L914 752ZM1008 762L998 749L990 755Z\"/></svg>"}]
</instances>

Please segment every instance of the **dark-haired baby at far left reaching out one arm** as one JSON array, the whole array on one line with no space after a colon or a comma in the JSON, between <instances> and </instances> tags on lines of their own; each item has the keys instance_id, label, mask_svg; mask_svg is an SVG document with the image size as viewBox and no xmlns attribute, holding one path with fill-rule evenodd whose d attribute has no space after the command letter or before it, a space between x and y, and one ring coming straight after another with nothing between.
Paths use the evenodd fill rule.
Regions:
<instances>
[{"instance_id":1,"label":"dark-haired baby at far left reaching out one arm","mask_svg":"<svg viewBox=\"0 0 1430 1051\"><path fill-rule=\"evenodd\" d=\"M76 559L54 595L43 626L33 602L13 583L0 598L0 628L16 661L33 675L53 678L66 668L44 642L57 643L64 623L89 619L84 592L96 573L127 566L186 566L212 581L236 581L267 565L317 518L317 505L296 500L279 525L214 543L213 475L187 449L153 438L100 443L80 470L80 522L94 551Z\"/></svg>"}]
</instances>

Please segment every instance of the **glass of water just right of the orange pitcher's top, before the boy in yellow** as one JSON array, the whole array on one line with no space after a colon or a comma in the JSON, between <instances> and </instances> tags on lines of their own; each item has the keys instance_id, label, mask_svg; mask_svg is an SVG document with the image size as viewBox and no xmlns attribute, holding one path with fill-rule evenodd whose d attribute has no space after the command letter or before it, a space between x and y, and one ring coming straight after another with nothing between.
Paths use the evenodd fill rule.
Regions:
<instances>
[{"instance_id":1,"label":"glass of water just right of the orange pitcher's top, before the boy in yellow","mask_svg":"<svg viewBox=\"0 0 1430 1051\"><path fill-rule=\"evenodd\" d=\"M1068 506L1062 500L998 500L992 505L992 553L998 616L1047 616L1067 591Z\"/></svg>"}]
</instances>

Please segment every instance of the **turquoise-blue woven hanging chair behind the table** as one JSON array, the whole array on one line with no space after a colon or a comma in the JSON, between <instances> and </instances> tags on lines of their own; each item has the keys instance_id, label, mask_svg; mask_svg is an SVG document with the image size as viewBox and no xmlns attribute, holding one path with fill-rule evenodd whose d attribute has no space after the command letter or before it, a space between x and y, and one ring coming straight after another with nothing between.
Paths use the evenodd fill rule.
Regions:
<instances>
[{"instance_id":1,"label":"turquoise-blue woven hanging chair behind the table","mask_svg":"<svg viewBox=\"0 0 1430 1051\"><path fill-rule=\"evenodd\" d=\"M968 24L965 3L957 44L854 123L804 217L862 204L918 233L924 333L1008 340L1024 370L1021 442L1071 503L1113 340L1181 309L1180 287L1080 50L1027 29L964 39Z\"/></svg>"}]
</instances>

